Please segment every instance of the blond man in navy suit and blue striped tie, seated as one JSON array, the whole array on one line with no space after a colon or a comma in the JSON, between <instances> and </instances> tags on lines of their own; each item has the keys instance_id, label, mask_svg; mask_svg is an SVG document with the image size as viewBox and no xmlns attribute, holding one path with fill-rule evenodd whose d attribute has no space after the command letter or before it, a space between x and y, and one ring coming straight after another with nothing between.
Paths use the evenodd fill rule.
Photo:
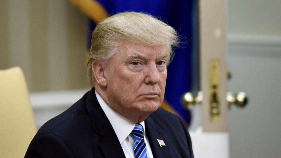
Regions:
<instances>
[{"instance_id":1,"label":"blond man in navy suit and blue striped tie, seated","mask_svg":"<svg viewBox=\"0 0 281 158\"><path fill-rule=\"evenodd\" d=\"M185 123L160 108L177 32L150 15L119 13L92 33L92 88L45 123L25 157L193 157Z\"/></svg>"}]
</instances>

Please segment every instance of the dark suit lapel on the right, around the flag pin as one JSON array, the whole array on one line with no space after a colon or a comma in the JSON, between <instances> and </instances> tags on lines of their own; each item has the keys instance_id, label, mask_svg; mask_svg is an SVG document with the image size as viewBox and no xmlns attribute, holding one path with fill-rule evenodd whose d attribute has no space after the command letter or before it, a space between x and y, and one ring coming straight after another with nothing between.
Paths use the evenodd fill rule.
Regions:
<instances>
[{"instance_id":1,"label":"dark suit lapel on the right, around the flag pin","mask_svg":"<svg viewBox=\"0 0 281 158\"><path fill-rule=\"evenodd\" d=\"M152 150L153 157L172 157L169 150L168 138L165 133L162 133L161 127L158 127L151 116L145 119L145 133L148 136L149 144ZM157 139L164 140L166 146L160 147Z\"/></svg>"}]
</instances>

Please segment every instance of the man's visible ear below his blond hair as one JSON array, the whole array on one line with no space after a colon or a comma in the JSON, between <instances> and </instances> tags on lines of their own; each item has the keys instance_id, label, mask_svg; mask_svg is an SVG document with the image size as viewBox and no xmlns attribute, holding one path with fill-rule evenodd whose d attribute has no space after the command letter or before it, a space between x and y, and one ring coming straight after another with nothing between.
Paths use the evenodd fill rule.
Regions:
<instances>
[{"instance_id":1,"label":"man's visible ear below his blond hair","mask_svg":"<svg viewBox=\"0 0 281 158\"><path fill-rule=\"evenodd\" d=\"M106 87L107 77L106 77L105 65L100 61L92 61L92 71L95 76L95 82L97 82L102 87Z\"/></svg>"}]
</instances>

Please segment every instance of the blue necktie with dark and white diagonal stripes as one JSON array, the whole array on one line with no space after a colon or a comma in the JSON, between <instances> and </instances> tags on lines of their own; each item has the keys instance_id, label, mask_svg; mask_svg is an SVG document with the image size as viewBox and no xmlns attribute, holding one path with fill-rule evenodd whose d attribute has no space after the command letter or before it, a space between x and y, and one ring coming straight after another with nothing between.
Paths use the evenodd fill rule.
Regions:
<instances>
[{"instance_id":1,"label":"blue necktie with dark and white diagonal stripes","mask_svg":"<svg viewBox=\"0 0 281 158\"><path fill-rule=\"evenodd\" d=\"M143 126L137 123L135 128L131 132L130 136L135 140L134 142L135 157L147 158L146 145L143 135Z\"/></svg>"}]
</instances>

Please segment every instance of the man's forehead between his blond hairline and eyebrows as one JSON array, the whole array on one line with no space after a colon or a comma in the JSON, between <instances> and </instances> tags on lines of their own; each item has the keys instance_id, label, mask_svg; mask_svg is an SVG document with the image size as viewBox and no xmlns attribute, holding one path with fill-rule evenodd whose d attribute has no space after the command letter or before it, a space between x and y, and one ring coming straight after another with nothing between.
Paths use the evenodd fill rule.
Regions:
<instances>
[{"instance_id":1,"label":"man's forehead between his blond hairline and eyebrows","mask_svg":"<svg viewBox=\"0 0 281 158\"><path fill-rule=\"evenodd\" d=\"M165 45L145 45L145 44L122 44L118 49L119 55L130 58L164 58L168 57L167 48Z\"/></svg>"}]
</instances>

